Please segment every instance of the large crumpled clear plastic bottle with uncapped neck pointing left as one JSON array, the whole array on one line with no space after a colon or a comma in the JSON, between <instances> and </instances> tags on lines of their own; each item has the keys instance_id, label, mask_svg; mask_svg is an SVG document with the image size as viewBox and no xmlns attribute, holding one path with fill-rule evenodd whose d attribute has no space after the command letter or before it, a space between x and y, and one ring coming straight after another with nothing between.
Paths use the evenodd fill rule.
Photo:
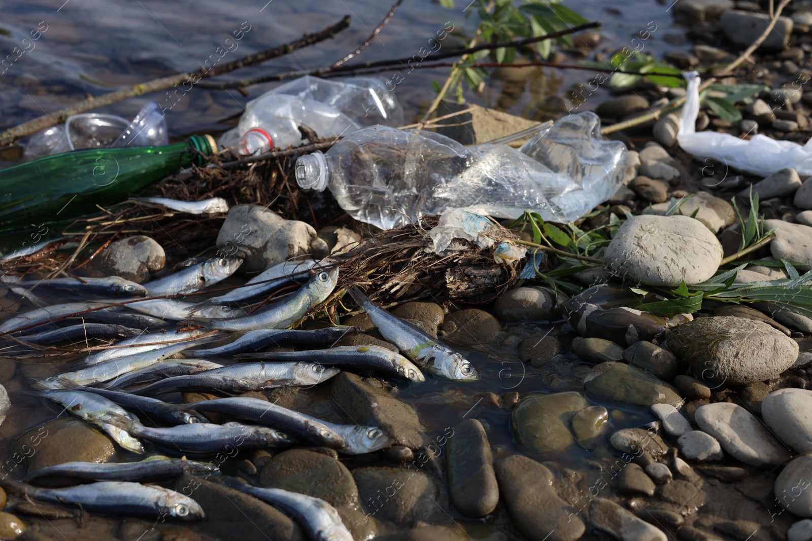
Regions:
<instances>
[{"instance_id":1,"label":"large crumpled clear plastic bottle with uncapped neck pointing left","mask_svg":"<svg viewBox=\"0 0 812 541\"><path fill-rule=\"evenodd\" d=\"M329 187L356 220L392 229L447 208L516 218L525 210L567 223L609 199L628 151L605 141L591 112L555 122L521 148L464 147L430 131L374 126L344 136L326 154L296 161L300 187Z\"/></svg>"}]
</instances>

